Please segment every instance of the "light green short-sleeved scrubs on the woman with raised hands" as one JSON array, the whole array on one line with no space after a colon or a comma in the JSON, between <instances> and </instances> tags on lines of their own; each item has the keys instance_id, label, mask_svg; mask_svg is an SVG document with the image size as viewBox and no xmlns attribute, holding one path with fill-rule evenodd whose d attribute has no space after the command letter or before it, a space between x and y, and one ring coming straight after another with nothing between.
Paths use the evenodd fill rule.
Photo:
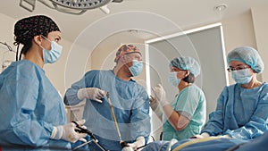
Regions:
<instances>
[{"instance_id":1,"label":"light green short-sleeved scrubs on the woman with raised hands","mask_svg":"<svg viewBox=\"0 0 268 151\"><path fill-rule=\"evenodd\" d=\"M196 85L183 88L172 101L172 108L188 118L187 127L177 131L172 124L164 118L163 140L176 138L182 140L199 134L202 126L205 124L205 95Z\"/></svg>"}]
</instances>

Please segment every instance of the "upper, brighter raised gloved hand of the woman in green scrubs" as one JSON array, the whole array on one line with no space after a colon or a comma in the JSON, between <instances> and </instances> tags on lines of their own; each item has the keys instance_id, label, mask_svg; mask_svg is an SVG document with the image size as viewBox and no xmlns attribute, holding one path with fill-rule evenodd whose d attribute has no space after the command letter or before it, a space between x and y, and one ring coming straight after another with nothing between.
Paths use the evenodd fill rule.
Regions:
<instances>
[{"instance_id":1,"label":"upper, brighter raised gloved hand of the woman in green scrubs","mask_svg":"<svg viewBox=\"0 0 268 151\"><path fill-rule=\"evenodd\" d=\"M155 94L156 101L158 101L160 105L169 105L169 102L166 99L165 91L161 84L158 84L157 86L155 86L155 88L152 88L152 91Z\"/></svg>"}]
</instances>

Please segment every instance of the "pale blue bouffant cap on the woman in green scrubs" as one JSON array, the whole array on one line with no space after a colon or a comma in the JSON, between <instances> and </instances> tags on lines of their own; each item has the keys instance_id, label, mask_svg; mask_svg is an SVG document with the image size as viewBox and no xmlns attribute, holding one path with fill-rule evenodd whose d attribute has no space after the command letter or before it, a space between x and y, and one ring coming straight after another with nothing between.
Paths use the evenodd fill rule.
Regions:
<instances>
[{"instance_id":1,"label":"pale blue bouffant cap on the woman in green scrubs","mask_svg":"<svg viewBox=\"0 0 268 151\"><path fill-rule=\"evenodd\" d=\"M170 67L172 66L177 67L180 70L188 70L195 77L197 77L200 74L200 66L197 63L197 61L192 57L188 56L176 57L170 63Z\"/></svg>"}]
</instances>

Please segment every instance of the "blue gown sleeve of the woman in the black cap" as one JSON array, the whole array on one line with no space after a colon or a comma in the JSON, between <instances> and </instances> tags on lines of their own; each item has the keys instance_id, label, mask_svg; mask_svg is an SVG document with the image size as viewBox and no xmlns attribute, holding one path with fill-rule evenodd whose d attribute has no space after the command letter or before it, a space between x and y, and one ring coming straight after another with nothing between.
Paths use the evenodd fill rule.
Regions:
<instances>
[{"instance_id":1,"label":"blue gown sleeve of the woman in the black cap","mask_svg":"<svg viewBox=\"0 0 268 151\"><path fill-rule=\"evenodd\" d=\"M36 117L42 113L36 110L36 106L41 101L39 98L42 92L39 92L39 87L44 83L38 80L38 71L33 68L19 68L13 75L13 79L7 80L5 86L6 96L12 101L4 108L4 112L9 115L1 117L10 121L2 135L10 143L18 145L46 145L53 125Z\"/></svg>"}]
</instances>

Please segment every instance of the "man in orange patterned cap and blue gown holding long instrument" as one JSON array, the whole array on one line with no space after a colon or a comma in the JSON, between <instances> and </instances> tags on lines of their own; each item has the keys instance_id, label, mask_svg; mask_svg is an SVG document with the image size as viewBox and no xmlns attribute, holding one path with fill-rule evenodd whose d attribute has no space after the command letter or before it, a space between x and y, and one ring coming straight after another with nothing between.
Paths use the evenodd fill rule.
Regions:
<instances>
[{"instance_id":1,"label":"man in orange patterned cap and blue gown holding long instrument","mask_svg":"<svg viewBox=\"0 0 268 151\"><path fill-rule=\"evenodd\" d=\"M143 69L142 55L137 46L122 45L114 59L113 70L88 71L71 85L64 96L66 105L77 105L87 99L83 118L96 135L99 144L111 151L121 150L120 138L113 123L106 93L109 93L122 141L136 149L144 146L150 134L149 97L145 88L132 77ZM90 150L98 150L89 144Z\"/></svg>"}]
</instances>

